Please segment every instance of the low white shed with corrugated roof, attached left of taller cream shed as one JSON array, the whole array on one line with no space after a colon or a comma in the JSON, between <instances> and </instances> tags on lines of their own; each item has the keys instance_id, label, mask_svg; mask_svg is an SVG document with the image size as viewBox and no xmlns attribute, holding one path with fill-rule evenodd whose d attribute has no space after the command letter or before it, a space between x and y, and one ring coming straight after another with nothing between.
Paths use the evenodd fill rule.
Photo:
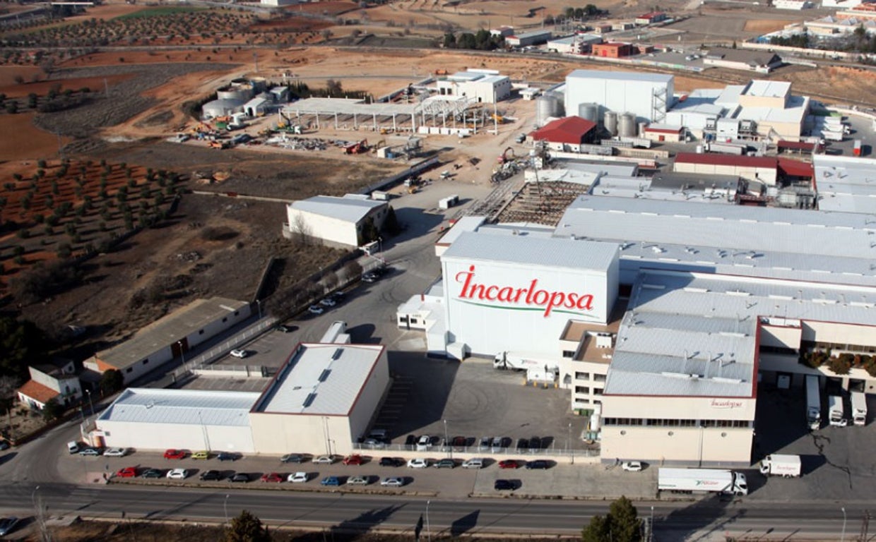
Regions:
<instances>
[{"instance_id":1,"label":"low white shed with corrugated roof, attached left of taller cream shed","mask_svg":"<svg viewBox=\"0 0 876 542\"><path fill-rule=\"evenodd\" d=\"M250 409L258 393L129 388L95 421L95 444L138 450L251 453Z\"/></svg>"}]
</instances>

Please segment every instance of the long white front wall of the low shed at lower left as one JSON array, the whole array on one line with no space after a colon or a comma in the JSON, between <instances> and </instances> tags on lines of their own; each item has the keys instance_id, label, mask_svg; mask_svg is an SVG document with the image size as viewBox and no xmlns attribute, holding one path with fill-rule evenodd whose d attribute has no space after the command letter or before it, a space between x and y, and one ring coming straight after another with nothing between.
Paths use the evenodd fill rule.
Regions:
<instances>
[{"instance_id":1,"label":"long white front wall of the low shed at lower left","mask_svg":"<svg viewBox=\"0 0 876 542\"><path fill-rule=\"evenodd\" d=\"M201 426L193 424L138 423L98 420L98 431L107 447L138 450L222 450L247 454L255 451L249 426Z\"/></svg>"}]
</instances>

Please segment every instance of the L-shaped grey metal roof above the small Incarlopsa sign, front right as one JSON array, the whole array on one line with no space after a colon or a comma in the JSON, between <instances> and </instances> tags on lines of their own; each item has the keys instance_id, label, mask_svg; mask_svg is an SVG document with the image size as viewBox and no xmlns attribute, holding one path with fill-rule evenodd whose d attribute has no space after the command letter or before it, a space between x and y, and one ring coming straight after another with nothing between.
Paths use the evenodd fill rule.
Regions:
<instances>
[{"instance_id":1,"label":"L-shaped grey metal roof above the small Incarlopsa sign, front right","mask_svg":"<svg viewBox=\"0 0 876 542\"><path fill-rule=\"evenodd\" d=\"M876 326L876 288L643 271L605 394L751 397L758 323Z\"/></svg>"}]
</instances>

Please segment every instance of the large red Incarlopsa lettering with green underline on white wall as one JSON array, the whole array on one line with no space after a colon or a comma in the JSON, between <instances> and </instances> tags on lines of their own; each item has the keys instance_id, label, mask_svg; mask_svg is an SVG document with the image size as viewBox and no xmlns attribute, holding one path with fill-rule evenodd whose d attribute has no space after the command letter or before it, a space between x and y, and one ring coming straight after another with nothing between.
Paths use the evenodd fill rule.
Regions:
<instances>
[{"instance_id":1,"label":"large red Incarlopsa lettering with green underline on white wall","mask_svg":"<svg viewBox=\"0 0 876 542\"><path fill-rule=\"evenodd\" d=\"M593 310L593 296L590 293L578 292L549 292L539 287L539 279L533 278L529 285L523 287L500 286L489 284L477 284L475 278L475 266L470 265L469 271L456 273L457 283L462 283L463 290L459 293L460 299L477 299L491 301L492 303L521 304L525 307L502 307L518 308L522 310L544 310L545 317L555 311L558 313L578 313ZM563 310L568 309L568 310Z\"/></svg>"}]
</instances>

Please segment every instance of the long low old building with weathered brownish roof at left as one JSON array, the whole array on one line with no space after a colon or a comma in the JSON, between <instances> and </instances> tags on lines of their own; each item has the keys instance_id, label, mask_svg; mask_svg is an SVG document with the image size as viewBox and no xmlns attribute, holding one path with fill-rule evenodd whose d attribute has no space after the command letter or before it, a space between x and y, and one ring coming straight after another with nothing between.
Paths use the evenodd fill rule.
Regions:
<instances>
[{"instance_id":1,"label":"long low old building with weathered brownish roof at left","mask_svg":"<svg viewBox=\"0 0 876 542\"><path fill-rule=\"evenodd\" d=\"M189 348L208 341L250 317L245 301L226 298L195 299L173 313L155 320L121 344L88 358L86 369L103 373L118 370L130 384Z\"/></svg>"}]
</instances>

